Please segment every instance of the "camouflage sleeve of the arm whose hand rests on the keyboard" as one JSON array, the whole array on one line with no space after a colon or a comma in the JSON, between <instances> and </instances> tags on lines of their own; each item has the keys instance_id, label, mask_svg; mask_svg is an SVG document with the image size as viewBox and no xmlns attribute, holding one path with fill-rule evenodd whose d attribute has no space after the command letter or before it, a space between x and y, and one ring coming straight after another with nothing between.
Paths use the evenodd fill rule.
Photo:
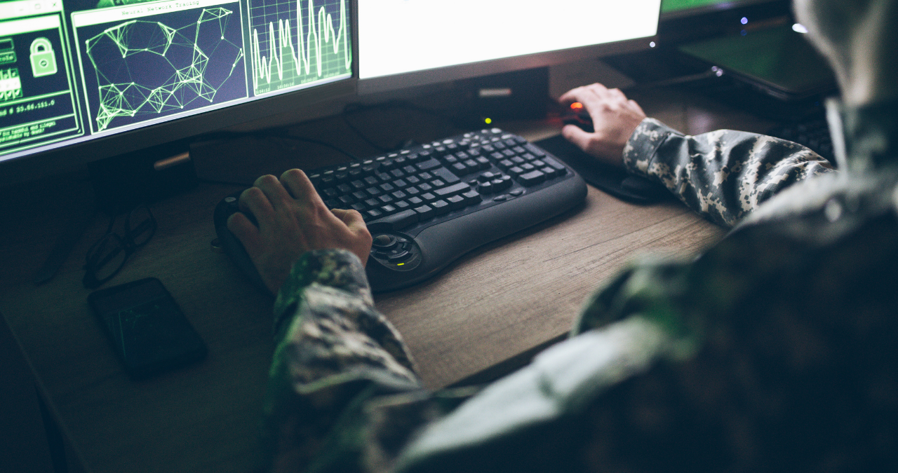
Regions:
<instances>
[{"instance_id":1,"label":"camouflage sleeve of the arm whose hand rests on the keyboard","mask_svg":"<svg viewBox=\"0 0 898 473\"><path fill-rule=\"evenodd\" d=\"M365 268L353 253L305 253L277 293L274 312L264 406L274 471L314 469L336 452L357 450L342 446L355 442L345 438L356 422L354 406L420 388L409 351L374 310Z\"/></svg>"}]
</instances>

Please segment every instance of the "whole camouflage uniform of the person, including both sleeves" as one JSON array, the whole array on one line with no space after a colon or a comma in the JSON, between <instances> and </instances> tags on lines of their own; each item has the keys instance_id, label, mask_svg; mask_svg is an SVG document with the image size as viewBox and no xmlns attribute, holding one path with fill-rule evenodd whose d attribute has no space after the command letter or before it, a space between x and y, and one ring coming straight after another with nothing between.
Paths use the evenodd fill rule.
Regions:
<instances>
[{"instance_id":1,"label":"whole camouflage uniform of the person, including both sleeves","mask_svg":"<svg viewBox=\"0 0 898 473\"><path fill-rule=\"evenodd\" d=\"M838 173L643 122L630 169L720 223L751 215L700 258L635 262L572 337L476 393L422 390L357 258L307 253L276 303L274 469L898 469L896 105L833 108Z\"/></svg>"}]
</instances>

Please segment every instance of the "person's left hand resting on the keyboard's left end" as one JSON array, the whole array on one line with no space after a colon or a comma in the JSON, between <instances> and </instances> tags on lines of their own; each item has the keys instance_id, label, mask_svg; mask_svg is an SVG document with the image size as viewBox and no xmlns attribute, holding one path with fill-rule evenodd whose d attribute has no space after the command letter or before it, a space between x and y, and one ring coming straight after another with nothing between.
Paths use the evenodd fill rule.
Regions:
<instances>
[{"instance_id":1,"label":"person's left hand resting on the keyboard's left end","mask_svg":"<svg viewBox=\"0 0 898 473\"><path fill-rule=\"evenodd\" d=\"M371 233L355 210L329 210L303 171L293 169L262 176L240 195L240 212L227 228L243 244L262 281L272 293L284 284L294 263L309 250L344 249L364 265L371 251Z\"/></svg>"}]
</instances>

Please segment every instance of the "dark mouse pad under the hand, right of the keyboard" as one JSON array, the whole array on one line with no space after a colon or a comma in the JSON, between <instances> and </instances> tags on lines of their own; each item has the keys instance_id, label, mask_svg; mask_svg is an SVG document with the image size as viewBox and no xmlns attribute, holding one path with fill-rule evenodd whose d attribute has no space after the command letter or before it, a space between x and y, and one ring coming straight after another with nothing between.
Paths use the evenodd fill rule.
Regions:
<instances>
[{"instance_id":1,"label":"dark mouse pad under the hand, right of the keyboard","mask_svg":"<svg viewBox=\"0 0 898 473\"><path fill-rule=\"evenodd\" d=\"M654 204L673 199L674 195L664 186L645 178L634 176L621 168L597 162L564 136L552 136L533 142L533 145L554 154L565 162L587 183L633 204Z\"/></svg>"}]
</instances>

